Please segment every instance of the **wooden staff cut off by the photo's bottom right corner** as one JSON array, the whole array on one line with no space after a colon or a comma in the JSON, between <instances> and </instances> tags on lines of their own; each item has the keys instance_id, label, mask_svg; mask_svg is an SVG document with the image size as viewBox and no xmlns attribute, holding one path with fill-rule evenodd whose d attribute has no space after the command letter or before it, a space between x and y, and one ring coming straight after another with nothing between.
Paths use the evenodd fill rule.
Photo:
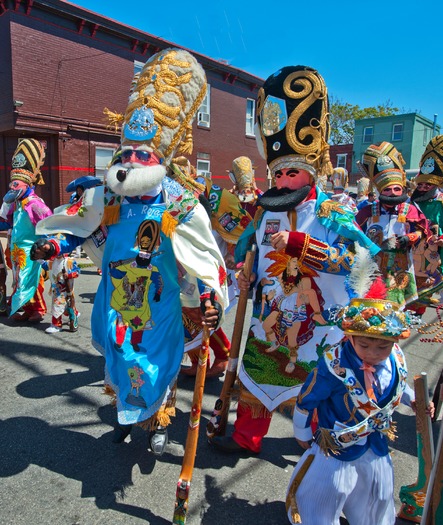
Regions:
<instances>
[{"instance_id":1,"label":"wooden staff cut off by the photo's bottom right corner","mask_svg":"<svg viewBox=\"0 0 443 525\"><path fill-rule=\"evenodd\" d=\"M440 426L421 523L423 525L443 523L443 425Z\"/></svg>"}]
</instances>

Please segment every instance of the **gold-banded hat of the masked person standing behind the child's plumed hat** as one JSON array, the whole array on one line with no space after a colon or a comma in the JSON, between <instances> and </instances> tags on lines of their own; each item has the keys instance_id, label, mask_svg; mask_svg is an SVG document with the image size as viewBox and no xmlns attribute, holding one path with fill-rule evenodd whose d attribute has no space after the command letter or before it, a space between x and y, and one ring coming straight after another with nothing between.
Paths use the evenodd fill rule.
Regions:
<instances>
[{"instance_id":1,"label":"gold-banded hat of the masked person standing behind the child's plumed hat","mask_svg":"<svg viewBox=\"0 0 443 525\"><path fill-rule=\"evenodd\" d=\"M406 163L390 142L371 144L363 154L362 164L380 193L392 184L406 186Z\"/></svg>"}]
</instances>

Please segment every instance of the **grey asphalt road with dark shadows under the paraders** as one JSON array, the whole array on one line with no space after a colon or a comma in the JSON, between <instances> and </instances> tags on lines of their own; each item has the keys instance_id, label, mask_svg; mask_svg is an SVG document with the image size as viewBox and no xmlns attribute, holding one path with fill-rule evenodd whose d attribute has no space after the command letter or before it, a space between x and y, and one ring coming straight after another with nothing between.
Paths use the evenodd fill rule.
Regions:
<instances>
[{"instance_id":1,"label":"grey asphalt road with dark shadows under the paraders","mask_svg":"<svg viewBox=\"0 0 443 525\"><path fill-rule=\"evenodd\" d=\"M82 314L77 333L65 326L60 333L46 334L49 315L37 326L0 318L2 525L171 523L193 380L179 379L177 416L162 458L147 451L146 433L138 428L127 442L111 442L115 413L102 394L103 358L90 343L99 279L92 267L84 268L76 280ZM427 318L433 316L435 310ZM234 312L228 315L228 334L233 318ZM443 368L442 347L420 343L419 337L412 336L404 345L410 383L425 371L433 390ZM204 429L221 387L217 378L206 385L187 523L286 524L286 487L302 453L292 437L291 419L275 414L258 457L216 453ZM228 432L234 411L232 407ZM398 508L400 486L416 480L417 459L412 412L401 407L395 419L399 437L392 455ZM439 426L434 425L435 442Z\"/></svg>"}]
</instances>

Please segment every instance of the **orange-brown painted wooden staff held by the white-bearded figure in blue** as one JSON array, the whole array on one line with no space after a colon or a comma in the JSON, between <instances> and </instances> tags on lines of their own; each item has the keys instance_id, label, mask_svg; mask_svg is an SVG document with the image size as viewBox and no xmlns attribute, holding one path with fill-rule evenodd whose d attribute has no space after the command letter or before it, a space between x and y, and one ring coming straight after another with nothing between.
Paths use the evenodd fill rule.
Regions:
<instances>
[{"instance_id":1,"label":"orange-brown painted wooden staff held by the white-bearded figure in blue","mask_svg":"<svg viewBox=\"0 0 443 525\"><path fill-rule=\"evenodd\" d=\"M211 306L207 307L207 309L209 308L211 308ZM197 452L203 390L205 387L206 368L209 358L210 335L210 329L207 327L207 325L203 325L202 344L198 354L198 368L197 375L195 377L191 414L189 416L188 435L186 437L182 469L177 483L175 509L172 519L172 523L176 525L185 525L188 514L189 490L191 488L192 473L194 470L195 455Z\"/></svg>"}]
</instances>

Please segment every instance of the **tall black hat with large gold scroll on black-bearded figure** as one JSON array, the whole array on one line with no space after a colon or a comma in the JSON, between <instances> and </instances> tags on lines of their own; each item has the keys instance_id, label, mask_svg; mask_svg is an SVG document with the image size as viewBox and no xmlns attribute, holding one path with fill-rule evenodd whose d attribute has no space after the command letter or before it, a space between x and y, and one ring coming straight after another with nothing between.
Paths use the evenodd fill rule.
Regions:
<instances>
[{"instance_id":1,"label":"tall black hat with large gold scroll on black-bearded figure","mask_svg":"<svg viewBox=\"0 0 443 525\"><path fill-rule=\"evenodd\" d=\"M257 123L272 175L289 167L314 177L332 173L328 111L328 91L315 69L287 66L266 80L258 92Z\"/></svg>"}]
</instances>

